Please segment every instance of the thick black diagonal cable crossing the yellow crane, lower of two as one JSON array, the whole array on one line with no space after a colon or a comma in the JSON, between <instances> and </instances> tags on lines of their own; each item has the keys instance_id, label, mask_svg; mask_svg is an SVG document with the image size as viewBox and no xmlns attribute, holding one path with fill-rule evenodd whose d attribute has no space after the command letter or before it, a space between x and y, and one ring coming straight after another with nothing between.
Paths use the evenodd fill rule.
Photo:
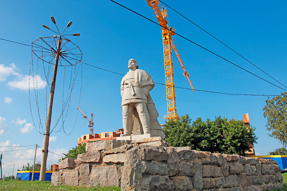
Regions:
<instances>
[{"instance_id":1,"label":"thick black diagonal cable crossing the yellow crane, lower of two","mask_svg":"<svg viewBox=\"0 0 287 191\"><path fill-rule=\"evenodd\" d=\"M227 61L227 62L233 64L234 66L237 66L238 68L241 68L242 70L245 70L244 68L238 66L237 64L234 64L233 62L231 62L231 61L229 61L229 60L223 58L222 56L219 56L218 54L216 54L216 53L214 53L214 52L212 52L212 51L210 51L210 50L204 48L203 46L200 46L199 44L197 44L197 43L195 43L195 42L189 40L188 38L185 38L184 36L182 36L182 35L180 35L180 34L174 32L174 31L172 31L172 30L170 30L170 29L168 29L168 28L166 28L166 27L160 25L159 23L156 23L156 22L152 21L151 19L145 17L144 15L141 15L141 14L139 14L139 13L137 13L137 12L135 12L135 11L133 11L133 10L131 10L131 9L129 9L129 8L127 8L127 7L123 6L123 5L121 5L121 4L117 3L117 2L115 2L115 1L113 1L113 0L110 0L110 1L112 1L113 3L116 3L117 5L120 5L121 7L124 7L125 9L127 9L127 10L129 10L129 11L131 11L131 12L133 12L133 13L135 13L135 14L137 14L137 15L139 15L139 16L141 16L141 17L143 17L143 18L145 18L145 19L147 19L147 20L149 20L149 21L151 21L151 22L153 22L153 23L155 23L155 24L157 24L157 25L159 25L159 26L161 26L161 27L163 27L163 28L169 30L169 31L171 31L171 32L173 32L174 34L177 34L177 35L180 36L181 38L184 38L185 40L188 40L189 42L192 42L193 44L195 44L195 45L197 45L197 46L203 48L204 50L207 50L208 52L214 54L215 56L218 56L219 58L222 58L223 60L225 60L225 61ZM265 80L265 79L263 79L263 78L257 76L256 74L253 74L252 72L249 72L248 70L245 70L245 71L248 72L248 73L250 73L250 74L252 74L252 75L254 75L254 76L256 76L257 78L260 78L261 80L264 80L265 82L268 82L269 84L272 84L272 85L274 85L274 86L276 86L276 87L278 87L278 88L280 88L280 89L282 89L282 90L284 90L284 91L287 91L286 89L283 89L283 88L281 88L281 87L279 87L279 86L273 84L272 82L269 82L269 81L267 81L267 80Z\"/></svg>"}]
</instances>

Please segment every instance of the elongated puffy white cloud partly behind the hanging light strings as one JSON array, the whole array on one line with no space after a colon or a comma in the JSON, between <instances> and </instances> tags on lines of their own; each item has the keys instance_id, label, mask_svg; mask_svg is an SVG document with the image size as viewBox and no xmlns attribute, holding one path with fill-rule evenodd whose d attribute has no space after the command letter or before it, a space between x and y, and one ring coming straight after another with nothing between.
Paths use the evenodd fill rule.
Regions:
<instances>
[{"instance_id":1,"label":"elongated puffy white cloud partly behind the hanging light strings","mask_svg":"<svg viewBox=\"0 0 287 191\"><path fill-rule=\"evenodd\" d=\"M46 86L46 81L43 81L39 75L28 76L25 75L20 80L9 81L8 86L11 88L18 88L20 90L28 90L29 89L29 79L30 79L30 88L34 88L34 86L38 89L43 89Z\"/></svg>"}]
</instances>

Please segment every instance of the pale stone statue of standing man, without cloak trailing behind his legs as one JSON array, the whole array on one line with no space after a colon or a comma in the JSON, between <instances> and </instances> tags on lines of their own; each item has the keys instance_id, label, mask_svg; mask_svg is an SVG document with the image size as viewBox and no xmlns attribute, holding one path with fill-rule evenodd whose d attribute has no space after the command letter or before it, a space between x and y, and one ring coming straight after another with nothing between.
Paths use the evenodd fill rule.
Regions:
<instances>
[{"instance_id":1,"label":"pale stone statue of standing man, without cloak trailing behind his legs","mask_svg":"<svg viewBox=\"0 0 287 191\"><path fill-rule=\"evenodd\" d=\"M133 126L133 111L136 109L144 134L150 133L150 115L147 109L147 96L154 87L154 82L148 72L137 69L135 59L130 59L129 71L121 81L121 96L123 108L123 129L121 136L131 135Z\"/></svg>"}]
</instances>

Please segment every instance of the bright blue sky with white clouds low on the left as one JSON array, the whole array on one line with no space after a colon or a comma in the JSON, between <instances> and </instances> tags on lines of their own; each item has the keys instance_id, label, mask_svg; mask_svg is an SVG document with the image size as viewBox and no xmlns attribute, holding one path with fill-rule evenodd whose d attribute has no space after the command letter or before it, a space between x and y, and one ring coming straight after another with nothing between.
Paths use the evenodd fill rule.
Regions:
<instances>
[{"instance_id":1,"label":"bright blue sky with white clouds low on the left","mask_svg":"<svg viewBox=\"0 0 287 191\"><path fill-rule=\"evenodd\" d=\"M147 2L117 2L156 21L156 17ZM267 72L282 84L286 83L286 1L164 1L216 38L236 50L253 64ZM66 34L80 33L79 37L69 39L83 52L83 61L94 66L120 74L128 71L127 63L135 58L139 68L146 70L154 82L165 83L161 28L138 15L116 5L111 1L1 1L0 38L31 44L39 37L52 36L54 33L42 27L44 24L56 30L50 16L54 16L59 30L63 30L71 20L73 24ZM254 74L280 85L266 74L240 58L234 52L220 44L201 29L167 8L168 20L178 34L219 54ZM182 60L190 74L195 89L239 94L280 94L281 89L233 66L191 42L174 36ZM0 40L0 144L43 145L40 135L33 125L27 76L31 58L31 48L20 44ZM34 59L34 63L35 63ZM173 55L175 86L189 87L182 70ZM39 68L39 76L45 80ZM80 108L94 114L94 132L115 131L122 127L120 81L122 76L83 65L82 94ZM27 76L26 76L27 75ZM79 80L78 78L77 80ZM39 81L40 83L40 81ZM43 83L45 83L43 81ZM55 125L61 110L63 87L63 68L59 69L55 103L52 113L52 125ZM11 85L14 84L14 85ZM49 150L66 153L74 147L77 138L89 133L88 121L78 113L75 127L75 115L79 101L80 80L76 81L71 106L63 131L51 133ZM39 89L40 116L45 121L46 89ZM159 113L158 121L164 123L166 110L165 86L156 84L150 92ZM8 97L8 98L7 98ZM31 97L33 99L33 97ZM258 144L257 155L266 155L276 147L282 147L278 140L268 137L266 119L262 108L267 97L228 96L207 92L192 92L176 89L177 112L185 113L195 120L206 120L222 116L228 119L243 119L249 113L251 125L256 127ZM189 100L189 101L187 101ZM33 100L32 100L33 101ZM32 104L34 119L37 121L36 107ZM52 126L51 125L51 126ZM38 127L38 126L37 126ZM55 128L58 131L61 125ZM3 130L3 131L1 131ZM9 150L9 147L1 147ZM27 147L30 148L30 147ZM11 149L11 147L10 147ZM15 148L12 148L13 150ZM41 161L41 152L37 151L36 161ZM4 164L20 168L27 162L32 163L34 149L17 152L4 152ZM60 157L49 153L47 166L54 164ZM3 166L3 173L11 174L11 166ZM14 172L15 173L15 172Z\"/></svg>"}]
</instances>

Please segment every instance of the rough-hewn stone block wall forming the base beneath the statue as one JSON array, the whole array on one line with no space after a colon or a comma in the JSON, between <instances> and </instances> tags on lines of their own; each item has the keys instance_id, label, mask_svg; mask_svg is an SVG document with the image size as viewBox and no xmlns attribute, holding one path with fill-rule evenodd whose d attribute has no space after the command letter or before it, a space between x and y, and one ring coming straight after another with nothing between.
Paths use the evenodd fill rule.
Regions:
<instances>
[{"instance_id":1,"label":"rough-hewn stone block wall forming the base beneath the statue","mask_svg":"<svg viewBox=\"0 0 287 191\"><path fill-rule=\"evenodd\" d=\"M121 186L121 190L270 190L283 186L274 160L170 147L160 137L86 144L59 162L54 185Z\"/></svg>"}]
</instances>

